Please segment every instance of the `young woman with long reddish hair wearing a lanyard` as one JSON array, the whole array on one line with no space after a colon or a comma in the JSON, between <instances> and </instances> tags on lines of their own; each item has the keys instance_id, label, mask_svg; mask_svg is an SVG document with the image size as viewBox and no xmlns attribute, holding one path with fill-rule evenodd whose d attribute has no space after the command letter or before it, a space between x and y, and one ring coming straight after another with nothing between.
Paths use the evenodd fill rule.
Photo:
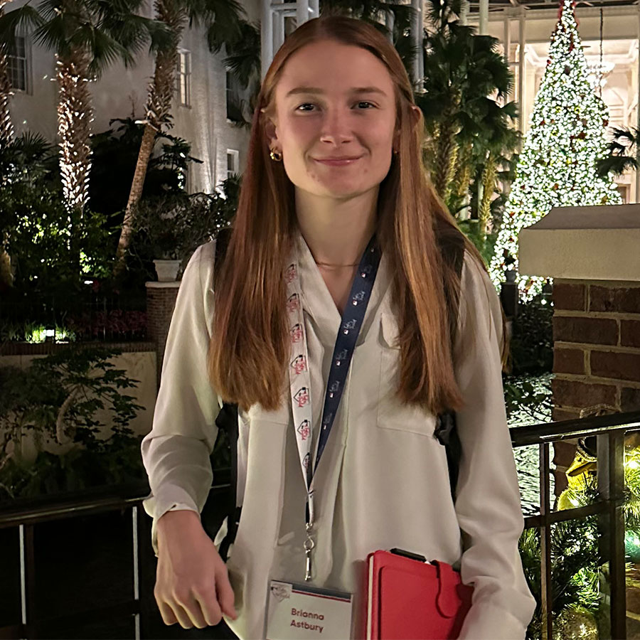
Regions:
<instances>
[{"instance_id":1,"label":"young woman with long reddish hair wearing a lanyard","mask_svg":"<svg viewBox=\"0 0 640 640\"><path fill-rule=\"evenodd\" d=\"M211 242L186 267L142 443L164 622L224 616L240 638L263 638L270 580L357 602L368 553L397 547L474 586L460 638L523 639L535 601L518 555L501 309L468 241L462 277L443 260L460 233L423 169L402 61L372 26L317 18L279 49L259 100L225 260ZM338 348L349 331L355 346ZM240 425L227 565L199 520L222 400ZM434 438L448 409L462 443L455 501Z\"/></svg>"}]
</instances>

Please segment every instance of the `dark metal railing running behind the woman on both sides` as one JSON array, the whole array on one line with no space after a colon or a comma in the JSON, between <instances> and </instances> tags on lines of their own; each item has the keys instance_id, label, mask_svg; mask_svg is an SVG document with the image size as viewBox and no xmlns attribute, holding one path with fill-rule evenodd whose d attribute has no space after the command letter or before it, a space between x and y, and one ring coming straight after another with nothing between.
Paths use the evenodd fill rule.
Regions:
<instances>
[{"instance_id":1,"label":"dark metal railing running behind the woman on both sides","mask_svg":"<svg viewBox=\"0 0 640 640\"><path fill-rule=\"evenodd\" d=\"M551 592L551 527L562 521L598 516L600 548L602 558L609 562L610 612L607 629L599 629L601 640L626 639L626 585L624 564L624 434L640 429L640 410L613 415L585 417L580 420L548 422L511 428L513 447L537 444L540 447L540 514L525 518L526 528L540 529L540 602L542 604L542 637L553 637ZM597 481L600 500L580 508L551 511L550 501L550 457L549 445L577 437L597 437L598 472ZM218 474L220 477L220 474ZM212 488L224 491L228 487L224 474L220 484ZM129 486L126 489L107 487L82 498L66 496L58 500L41 498L29 506L16 506L0 513L0 528L18 527L21 565L21 622L0 627L0 639L38 637L38 629L55 622L80 624L85 619L97 621L112 619L115 615L135 617L135 637L144 636L149 619L150 599L153 585L146 584L141 577L141 567L152 560L149 544L150 518L140 513L142 499L149 494L149 486ZM133 584L131 597L110 607L95 607L90 610L61 616L55 619L38 617L35 598L35 563L33 528L45 521L73 518L107 511L132 509L133 535ZM143 540L142 545L139 540ZM141 596L142 594L142 596Z\"/></svg>"}]
</instances>

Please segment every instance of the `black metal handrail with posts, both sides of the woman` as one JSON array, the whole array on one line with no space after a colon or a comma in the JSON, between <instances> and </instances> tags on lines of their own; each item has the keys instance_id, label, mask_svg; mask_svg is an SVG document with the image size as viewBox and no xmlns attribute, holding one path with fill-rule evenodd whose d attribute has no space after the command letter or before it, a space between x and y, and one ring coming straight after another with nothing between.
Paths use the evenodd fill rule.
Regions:
<instances>
[{"instance_id":1,"label":"black metal handrail with posts, both sides of the woman","mask_svg":"<svg viewBox=\"0 0 640 640\"><path fill-rule=\"evenodd\" d=\"M552 594L550 590L551 581L551 557L550 557L550 527L553 523L587 516L598 516L607 521L605 528L603 549L606 550L609 558L610 582L611 582L611 631L612 637L625 637L625 609L626 594L624 592L624 516L622 515L622 486L624 486L624 476L622 476L622 460L624 457L623 434L625 431L640 429L640 411L621 412L610 415L590 416L577 420L562 420L558 422L547 422L537 425L526 425L523 427L511 427L510 435L513 447L523 447L537 444L540 447L540 514L526 518L526 528L539 528L542 533L541 539L541 587L543 604L543 630L547 637L553 634L551 621ZM570 439L575 437L585 437L588 435L599 436L599 457L602 449L602 465L599 464L599 488L602 489L602 501L592 505L583 506L565 511L552 511L550 508L550 494L548 477L550 475L549 465L549 444L553 441ZM604 439L603 439L604 437ZM605 442L606 440L606 442ZM600 442L602 441L602 442ZM603 446L601 446L603 445ZM601 469L602 466L602 469ZM229 486L228 482L220 482L225 479L225 471L217 470L216 479L218 484L211 487L214 490L222 490ZM39 622L33 620L31 612L34 609L33 596L33 525L39 522L58 518L87 515L88 513L99 513L101 511L112 511L119 508L133 508L134 511L134 543L137 546L137 513L142 500L149 496L149 484L146 481L139 481L128 485L107 486L75 494L62 494L59 496L41 496L29 500L16 501L10 508L0 511L0 528L11 526L20 527L21 540L26 549L26 556L23 558L23 565L26 575L21 577L23 585L28 587L28 598L23 602L23 617L25 611L29 618L26 624L19 624L21 634L28 637L31 632L36 632ZM146 545L144 546L146 549ZM135 554L134 554L135 555ZM29 560L31 558L31 560ZM138 558L137 555L135 558ZM134 560L134 565L139 564L139 560ZM135 569L137 575L137 569ZM31 594L31 595L30 595ZM133 607L137 619L137 637L139 635L140 624L145 626L145 622L140 619L142 612L142 599L137 592L133 599L122 602L119 607ZM142 604L142 606L146 606ZM124 609L123 609L124 610ZM97 611L97 609L96 609ZM90 614L92 612L85 612ZM95 612L93 612L95 614ZM9 627L0 629L2 632L9 631ZM13 629L13 627L11 627Z\"/></svg>"}]
</instances>

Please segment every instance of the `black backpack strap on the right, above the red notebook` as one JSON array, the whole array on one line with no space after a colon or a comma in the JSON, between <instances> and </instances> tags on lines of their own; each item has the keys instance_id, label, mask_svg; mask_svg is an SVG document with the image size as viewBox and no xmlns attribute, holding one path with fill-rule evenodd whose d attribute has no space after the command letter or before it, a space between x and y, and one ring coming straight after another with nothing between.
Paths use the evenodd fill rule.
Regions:
<instances>
[{"instance_id":1,"label":"black backpack strap on the right, above the red notebook","mask_svg":"<svg viewBox=\"0 0 640 640\"><path fill-rule=\"evenodd\" d=\"M462 233L454 235L452 238L447 240L447 243L443 247L442 255L444 257L444 261L454 267L458 278L462 277L462 265L464 265L464 238L462 237ZM458 309L457 306L454 306L454 301L449 299L448 296L447 305L449 306L449 314L452 317L450 326L452 328L451 343L453 346L455 341ZM454 411L445 411L436 417L434 437L438 439L440 444L444 445L444 450L447 453L449 486L451 487L451 496L455 503L460 458L462 457L462 444L458 435L456 414Z\"/></svg>"}]
</instances>

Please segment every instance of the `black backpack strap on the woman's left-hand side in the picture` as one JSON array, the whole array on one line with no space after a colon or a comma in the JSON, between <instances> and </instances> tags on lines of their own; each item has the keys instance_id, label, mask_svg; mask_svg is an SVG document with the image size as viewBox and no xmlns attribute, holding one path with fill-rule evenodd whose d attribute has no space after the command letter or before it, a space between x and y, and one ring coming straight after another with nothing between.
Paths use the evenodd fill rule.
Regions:
<instances>
[{"instance_id":1,"label":"black backpack strap on the woman's left-hand side in the picture","mask_svg":"<svg viewBox=\"0 0 640 640\"><path fill-rule=\"evenodd\" d=\"M218 232L215 240L214 278L215 273L220 273L218 267L224 260L230 237L230 228L221 229ZM223 402L223 406L218 412L218 417L215 418L215 425L218 427L218 430L227 434L231 459L230 490L225 508L225 513L227 513L227 535L223 538L222 543L220 543L220 549L218 550L220 557L226 562L229 547L235 540L235 534L238 533L241 509L241 507L236 505L238 502L238 405Z\"/></svg>"}]
</instances>

